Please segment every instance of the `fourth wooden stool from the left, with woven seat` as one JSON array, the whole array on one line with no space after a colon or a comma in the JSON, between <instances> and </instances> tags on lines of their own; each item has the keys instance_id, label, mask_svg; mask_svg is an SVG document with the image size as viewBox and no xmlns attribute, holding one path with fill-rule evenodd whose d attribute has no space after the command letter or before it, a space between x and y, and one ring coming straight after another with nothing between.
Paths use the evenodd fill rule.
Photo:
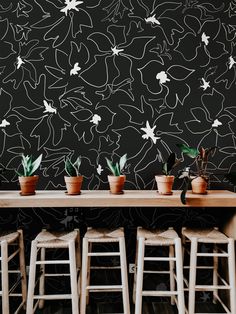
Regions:
<instances>
[{"instance_id":1,"label":"fourth wooden stool from the left, with woven seat","mask_svg":"<svg viewBox=\"0 0 236 314\"><path fill-rule=\"evenodd\" d=\"M169 247L169 256L167 257L147 257L145 256L146 246L167 246ZM169 271L145 271L144 262L169 262ZM171 304L176 303L178 313L185 313L184 304L184 287L183 287L183 263L182 263L182 247L181 239L178 234L169 228L166 231L161 230L146 230L141 227L137 229L137 249L135 259L136 269L134 273L134 289L133 301L135 303L135 314L142 313L142 297L143 296L158 296L171 297ZM176 264L176 274L174 273L174 264ZM170 291L143 290L143 274L169 274L170 276ZM175 280L177 289L175 289Z\"/></svg>"}]
</instances>

